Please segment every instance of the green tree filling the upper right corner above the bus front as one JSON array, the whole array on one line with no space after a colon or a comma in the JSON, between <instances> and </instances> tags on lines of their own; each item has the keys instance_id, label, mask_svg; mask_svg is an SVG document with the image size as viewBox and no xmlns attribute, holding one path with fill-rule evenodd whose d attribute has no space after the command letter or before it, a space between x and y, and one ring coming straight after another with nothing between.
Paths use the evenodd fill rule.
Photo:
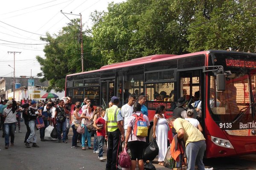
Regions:
<instances>
[{"instance_id":1,"label":"green tree filling the upper right corner above the bus front","mask_svg":"<svg viewBox=\"0 0 256 170\"><path fill-rule=\"evenodd\" d=\"M256 2L204 0L188 28L188 51L245 50L256 42ZM252 48L251 48L252 50Z\"/></svg>"}]
</instances>

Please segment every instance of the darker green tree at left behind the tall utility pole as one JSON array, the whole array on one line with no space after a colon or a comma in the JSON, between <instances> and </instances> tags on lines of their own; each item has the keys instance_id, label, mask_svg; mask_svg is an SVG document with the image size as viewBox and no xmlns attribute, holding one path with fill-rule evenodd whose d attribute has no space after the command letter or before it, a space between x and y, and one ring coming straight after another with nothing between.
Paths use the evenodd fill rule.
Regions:
<instances>
[{"instance_id":1,"label":"darker green tree at left behind the tall utility pole","mask_svg":"<svg viewBox=\"0 0 256 170\"><path fill-rule=\"evenodd\" d=\"M49 81L48 91L64 91L65 77L67 74L81 72L81 40L79 20L73 20L72 26L63 27L58 35L41 37L41 40L49 42L44 48L46 58L37 56L41 65L39 77L42 81ZM83 32L84 71L94 70L100 67L100 56L91 54L92 37Z\"/></svg>"}]
</instances>

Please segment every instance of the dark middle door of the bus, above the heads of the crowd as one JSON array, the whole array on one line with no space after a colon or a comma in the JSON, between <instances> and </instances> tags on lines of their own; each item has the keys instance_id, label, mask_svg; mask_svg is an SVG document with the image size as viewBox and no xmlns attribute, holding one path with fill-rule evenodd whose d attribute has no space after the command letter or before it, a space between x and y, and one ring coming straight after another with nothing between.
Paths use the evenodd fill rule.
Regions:
<instances>
[{"instance_id":1,"label":"dark middle door of the bus, above the heads of the crowd","mask_svg":"<svg viewBox=\"0 0 256 170\"><path fill-rule=\"evenodd\" d=\"M101 80L101 105L104 109L108 108L111 97L114 96L115 79Z\"/></svg>"}]
</instances>

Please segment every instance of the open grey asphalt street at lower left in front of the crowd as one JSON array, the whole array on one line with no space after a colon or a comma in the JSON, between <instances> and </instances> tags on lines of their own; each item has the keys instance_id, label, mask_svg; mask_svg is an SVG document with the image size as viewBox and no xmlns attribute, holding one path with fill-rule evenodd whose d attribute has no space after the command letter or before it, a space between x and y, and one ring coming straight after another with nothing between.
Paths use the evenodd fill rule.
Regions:
<instances>
[{"instance_id":1,"label":"open grey asphalt street at lower left in front of the crowd","mask_svg":"<svg viewBox=\"0 0 256 170\"><path fill-rule=\"evenodd\" d=\"M67 144L55 141L41 142L38 130L38 148L25 147L26 126L24 122L21 122L21 132L15 133L14 146L5 149L4 138L0 131L0 170L105 170L106 160L99 161L98 154L93 153L93 150L81 150L81 147L71 148L73 135L71 129ZM106 146L104 150L103 156L106 157ZM158 165L157 159L154 163L156 163L154 165L157 170L168 170L168 168Z\"/></svg>"}]
</instances>

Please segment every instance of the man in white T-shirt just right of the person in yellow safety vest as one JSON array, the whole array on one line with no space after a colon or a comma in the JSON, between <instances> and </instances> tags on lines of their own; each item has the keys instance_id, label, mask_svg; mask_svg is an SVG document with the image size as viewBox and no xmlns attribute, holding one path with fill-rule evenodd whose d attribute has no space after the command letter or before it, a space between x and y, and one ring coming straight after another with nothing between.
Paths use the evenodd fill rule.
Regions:
<instances>
[{"instance_id":1,"label":"man in white T-shirt just right of the person in yellow safety vest","mask_svg":"<svg viewBox=\"0 0 256 170\"><path fill-rule=\"evenodd\" d=\"M133 113L133 105L135 103L135 99L136 99L136 96L134 94L131 94L128 98L128 103L123 105L121 108L122 117L124 119L125 134L126 134L127 127L128 127L128 118Z\"/></svg>"}]
</instances>

